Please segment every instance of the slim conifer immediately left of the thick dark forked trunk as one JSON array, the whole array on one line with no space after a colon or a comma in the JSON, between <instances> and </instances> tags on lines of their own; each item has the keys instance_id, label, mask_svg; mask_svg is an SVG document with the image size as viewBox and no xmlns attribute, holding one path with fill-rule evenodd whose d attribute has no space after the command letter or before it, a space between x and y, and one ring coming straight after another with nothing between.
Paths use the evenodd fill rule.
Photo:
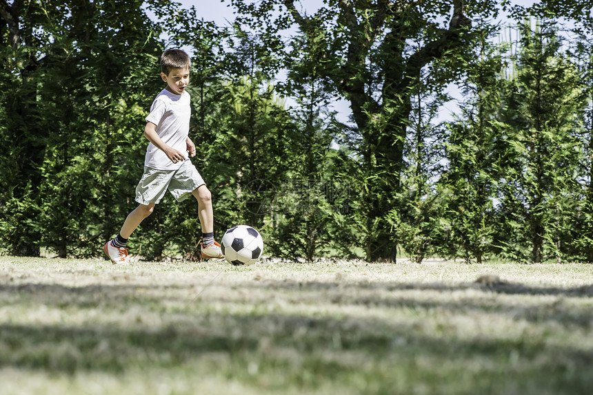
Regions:
<instances>
[{"instance_id":1,"label":"slim conifer immediately left of the thick dark forked trunk","mask_svg":"<svg viewBox=\"0 0 593 395\"><path fill-rule=\"evenodd\" d=\"M304 256L308 262L339 244L329 237L328 228L341 220L336 197L342 194L336 191L343 189L327 171L334 131L334 114L328 111L332 95L327 77L319 73L326 34L318 28L292 39L288 78L279 87L296 98L292 108L296 128L285 156L290 171L277 196L272 249L280 256Z\"/></svg>"}]
</instances>

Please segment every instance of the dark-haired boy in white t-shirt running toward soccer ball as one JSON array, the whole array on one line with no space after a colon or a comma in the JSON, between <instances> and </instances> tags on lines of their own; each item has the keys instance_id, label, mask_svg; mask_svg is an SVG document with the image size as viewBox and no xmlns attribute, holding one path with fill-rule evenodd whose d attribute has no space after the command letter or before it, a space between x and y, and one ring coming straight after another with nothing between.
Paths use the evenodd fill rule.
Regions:
<instances>
[{"instance_id":1,"label":"dark-haired boy in white t-shirt running toward soccer ball","mask_svg":"<svg viewBox=\"0 0 593 395\"><path fill-rule=\"evenodd\" d=\"M212 194L189 156L196 147L190 131L190 56L182 50L166 50L161 55L161 78L167 84L152 102L146 117L144 136L150 141L144 158L144 173L136 187L136 209L125 218L119 235L103 246L114 264L126 264L128 237L154 211L169 191L178 202L190 195L198 201L202 230L201 257L221 258L220 244L214 241Z\"/></svg>"}]
</instances>

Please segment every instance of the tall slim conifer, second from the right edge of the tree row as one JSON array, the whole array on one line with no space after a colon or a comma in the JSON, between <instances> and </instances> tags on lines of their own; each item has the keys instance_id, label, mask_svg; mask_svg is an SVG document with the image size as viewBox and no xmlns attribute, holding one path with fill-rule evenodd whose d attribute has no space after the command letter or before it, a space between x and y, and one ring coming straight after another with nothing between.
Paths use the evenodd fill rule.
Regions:
<instances>
[{"instance_id":1,"label":"tall slim conifer, second from the right edge of the tree row","mask_svg":"<svg viewBox=\"0 0 593 395\"><path fill-rule=\"evenodd\" d=\"M492 252L494 199L499 182L503 47L491 43L498 29L481 24L474 56L465 71L467 80L461 114L448 122L445 143L448 169L439 184L447 196L451 244L443 253L481 264Z\"/></svg>"}]
</instances>

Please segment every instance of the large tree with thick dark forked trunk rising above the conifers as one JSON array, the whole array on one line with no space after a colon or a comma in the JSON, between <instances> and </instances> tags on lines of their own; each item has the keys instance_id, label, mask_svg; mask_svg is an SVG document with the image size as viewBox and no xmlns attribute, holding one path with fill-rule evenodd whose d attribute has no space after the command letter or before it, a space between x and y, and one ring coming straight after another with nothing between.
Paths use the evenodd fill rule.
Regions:
<instances>
[{"instance_id":1,"label":"large tree with thick dark forked trunk rising above the conifers","mask_svg":"<svg viewBox=\"0 0 593 395\"><path fill-rule=\"evenodd\" d=\"M401 184L412 88L425 65L452 56L463 46L463 33L471 27L465 12L496 8L493 3L481 2L478 7L476 3L464 5L461 0L452 4L387 0L324 3L325 7L310 17L299 12L294 0L266 0L257 7L233 1L244 16L240 21L255 28L265 25L272 32L296 23L301 32L309 34L312 21L323 22L328 35L319 72L329 79L336 94L350 102L360 137L357 150L364 168L361 199L365 204L359 214L366 218L361 229L366 258L394 259L396 239L385 213L394 209L391 196ZM270 19L270 11L280 5L286 12ZM448 28L441 28L439 19L450 10ZM423 45L412 48L410 40Z\"/></svg>"}]
</instances>

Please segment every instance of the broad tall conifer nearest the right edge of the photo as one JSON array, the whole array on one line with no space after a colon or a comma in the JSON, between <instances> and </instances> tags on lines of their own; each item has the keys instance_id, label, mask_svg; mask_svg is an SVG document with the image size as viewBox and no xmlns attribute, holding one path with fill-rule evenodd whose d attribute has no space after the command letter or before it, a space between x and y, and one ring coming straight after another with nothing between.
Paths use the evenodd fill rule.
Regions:
<instances>
[{"instance_id":1,"label":"broad tall conifer nearest the right edge of the photo","mask_svg":"<svg viewBox=\"0 0 593 395\"><path fill-rule=\"evenodd\" d=\"M561 54L554 24L543 21L532 30L519 25L521 48L516 76L505 96L508 125L501 210L507 220L499 242L515 259L542 262L561 258L559 221L574 210L579 141L573 130L583 106L580 76ZM530 252L519 246L530 246Z\"/></svg>"}]
</instances>

